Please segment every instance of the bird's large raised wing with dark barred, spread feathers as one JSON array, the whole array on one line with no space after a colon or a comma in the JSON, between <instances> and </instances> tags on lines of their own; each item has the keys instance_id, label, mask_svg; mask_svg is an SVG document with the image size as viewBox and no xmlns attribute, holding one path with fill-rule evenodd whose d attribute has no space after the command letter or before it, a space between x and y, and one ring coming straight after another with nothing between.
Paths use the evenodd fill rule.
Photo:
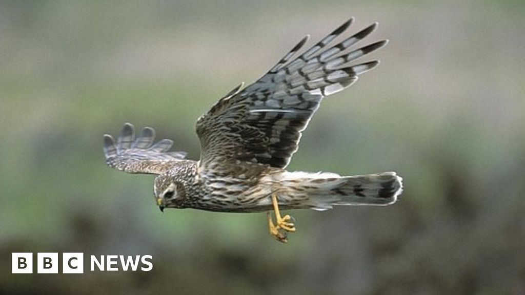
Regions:
<instances>
[{"instance_id":1,"label":"bird's large raised wing with dark barred, spread feathers","mask_svg":"<svg viewBox=\"0 0 525 295\"><path fill-rule=\"evenodd\" d=\"M201 164L244 161L286 167L322 98L350 86L361 73L379 64L348 65L383 47L386 40L346 52L372 33L377 23L327 48L352 21L292 60L308 40L304 37L266 75L242 91L239 85L199 118Z\"/></svg>"}]
</instances>

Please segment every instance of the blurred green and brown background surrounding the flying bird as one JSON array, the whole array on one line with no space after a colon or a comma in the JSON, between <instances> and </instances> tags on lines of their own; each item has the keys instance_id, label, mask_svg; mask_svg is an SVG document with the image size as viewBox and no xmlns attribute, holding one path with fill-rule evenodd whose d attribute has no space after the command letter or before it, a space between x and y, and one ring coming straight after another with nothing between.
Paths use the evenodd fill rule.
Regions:
<instances>
[{"instance_id":1,"label":"blurred green and brown background surrounding the flying bird","mask_svg":"<svg viewBox=\"0 0 525 295\"><path fill-rule=\"evenodd\" d=\"M0 293L524 294L522 1L1 1ZM397 171L394 206L159 212L102 134L199 154L199 115L350 16L382 64L324 100L289 170ZM313 42L311 41L311 42ZM311 44L311 43L310 43ZM12 275L12 252L152 255L150 272ZM34 254L36 258L36 254ZM35 268L36 269L36 268ZM61 268L60 268L61 269Z\"/></svg>"}]
</instances>

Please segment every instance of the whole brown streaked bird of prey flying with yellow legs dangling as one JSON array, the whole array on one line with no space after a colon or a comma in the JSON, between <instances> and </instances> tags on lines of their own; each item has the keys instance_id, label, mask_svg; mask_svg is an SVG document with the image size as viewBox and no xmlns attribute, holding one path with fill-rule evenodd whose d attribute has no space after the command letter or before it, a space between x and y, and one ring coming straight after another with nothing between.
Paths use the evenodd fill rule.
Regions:
<instances>
[{"instance_id":1,"label":"whole brown streaked bird of prey flying with yellow legs dangling","mask_svg":"<svg viewBox=\"0 0 525 295\"><path fill-rule=\"evenodd\" d=\"M299 55L309 38L304 37L259 80L246 88L241 83L219 99L197 120L198 161L186 160L185 152L169 151L172 140L154 144L152 128L136 136L133 125L126 123L117 141L104 135L106 163L129 173L158 175L154 195L162 211L267 212L270 234L283 243L296 228L295 220L281 216L279 209L395 203L402 192L402 178L395 172L341 176L285 170L323 97L349 87L379 64L349 65L387 43L349 49L377 23L329 46L352 22L350 18Z\"/></svg>"}]
</instances>

